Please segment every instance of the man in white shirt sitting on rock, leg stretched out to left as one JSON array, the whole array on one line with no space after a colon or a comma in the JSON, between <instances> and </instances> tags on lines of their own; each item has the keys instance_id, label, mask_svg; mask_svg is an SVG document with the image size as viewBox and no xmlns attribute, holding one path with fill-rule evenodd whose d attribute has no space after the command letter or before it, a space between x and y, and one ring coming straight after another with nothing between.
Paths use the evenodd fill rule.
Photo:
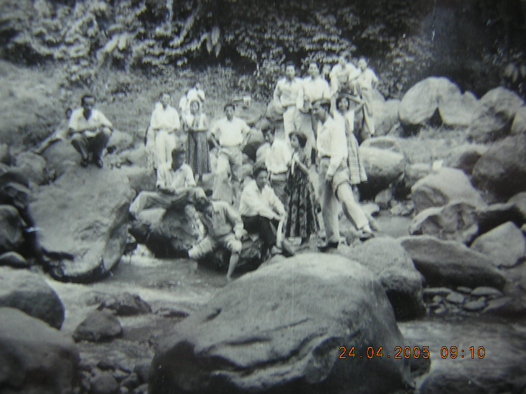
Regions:
<instances>
[{"instance_id":1,"label":"man in white shirt sitting on rock, leg stretched out to left","mask_svg":"<svg viewBox=\"0 0 526 394\"><path fill-rule=\"evenodd\" d=\"M131 215L137 217L148 208L183 206L187 200L193 198L198 188L194 173L185 163L185 158L186 151L182 148L171 152L171 163L157 169L157 191L141 191L130 205Z\"/></svg>"}]
</instances>

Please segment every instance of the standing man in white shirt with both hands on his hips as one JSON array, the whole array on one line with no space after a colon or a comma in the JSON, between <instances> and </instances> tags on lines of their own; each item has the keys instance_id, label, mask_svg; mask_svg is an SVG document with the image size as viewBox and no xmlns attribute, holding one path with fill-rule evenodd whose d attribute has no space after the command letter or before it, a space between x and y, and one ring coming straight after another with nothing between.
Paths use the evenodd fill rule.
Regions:
<instances>
[{"instance_id":1,"label":"standing man in white shirt with both hands on his hips","mask_svg":"<svg viewBox=\"0 0 526 394\"><path fill-rule=\"evenodd\" d=\"M234 104L227 103L224 111L225 118L219 119L211 129L212 142L218 150L212 199L236 203L241 181L239 170L243 164L242 150L247 144L250 127L234 116ZM231 188L227 182L229 170Z\"/></svg>"}]
</instances>

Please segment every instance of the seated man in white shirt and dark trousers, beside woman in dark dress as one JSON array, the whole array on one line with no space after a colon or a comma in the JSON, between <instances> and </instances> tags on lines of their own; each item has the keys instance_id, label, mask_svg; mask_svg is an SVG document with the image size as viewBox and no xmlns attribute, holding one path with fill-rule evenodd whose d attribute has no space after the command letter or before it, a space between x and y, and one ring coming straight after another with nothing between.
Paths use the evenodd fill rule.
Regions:
<instances>
[{"instance_id":1,"label":"seated man in white shirt and dark trousers, beside woman in dark dress","mask_svg":"<svg viewBox=\"0 0 526 394\"><path fill-rule=\"evenodd\" d=\"M267 250L279 253L276 231L285 219L285 207L267 183L268 172L264 165L254 167L254 180L248 182L241 193L239 213L249 233L260 235Z\"/></svg>"}]
</instances>

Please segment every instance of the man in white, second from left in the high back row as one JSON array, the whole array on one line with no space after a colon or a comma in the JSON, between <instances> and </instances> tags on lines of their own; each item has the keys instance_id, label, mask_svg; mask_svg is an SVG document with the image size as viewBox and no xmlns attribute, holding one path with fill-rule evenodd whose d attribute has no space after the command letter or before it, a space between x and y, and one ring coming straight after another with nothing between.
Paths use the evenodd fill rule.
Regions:
<instances>
[{"instance_id":1,"label":"man in white, second from left in the high back row","mask_svg":"<svg viewBox=\"0 0 526 394\"><path fill-rule=\"evenodd\" d=\"M311 61L308 70L309 76L303 80L303 97L298 100L299 130L307 137L305 153L311 155L316 149L317 121L312 116L312 103L320 99L330 99L328 82L321 77L320 69L315 61Z\"/></svg>"}]
</instances>

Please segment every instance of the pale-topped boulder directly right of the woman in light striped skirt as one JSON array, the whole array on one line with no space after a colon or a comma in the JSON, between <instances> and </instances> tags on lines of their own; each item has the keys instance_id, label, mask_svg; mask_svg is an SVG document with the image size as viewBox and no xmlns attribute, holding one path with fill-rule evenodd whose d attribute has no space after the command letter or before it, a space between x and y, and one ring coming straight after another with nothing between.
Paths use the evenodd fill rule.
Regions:
<instances>
[{"instance_id":1,"label":"pale-topped boulder directly right of the woman in light striped skirt","mask_svg":"<svg viewBox=\"0 0 526 394\"><path fill-rule=\"evenodd\" d=\"M407 164L403 154L367 146L360 146L359 150L369 179L359 186L363 198L374 198L378 192L398 182L403 176Z\"/></svg>"}]
</instances>

